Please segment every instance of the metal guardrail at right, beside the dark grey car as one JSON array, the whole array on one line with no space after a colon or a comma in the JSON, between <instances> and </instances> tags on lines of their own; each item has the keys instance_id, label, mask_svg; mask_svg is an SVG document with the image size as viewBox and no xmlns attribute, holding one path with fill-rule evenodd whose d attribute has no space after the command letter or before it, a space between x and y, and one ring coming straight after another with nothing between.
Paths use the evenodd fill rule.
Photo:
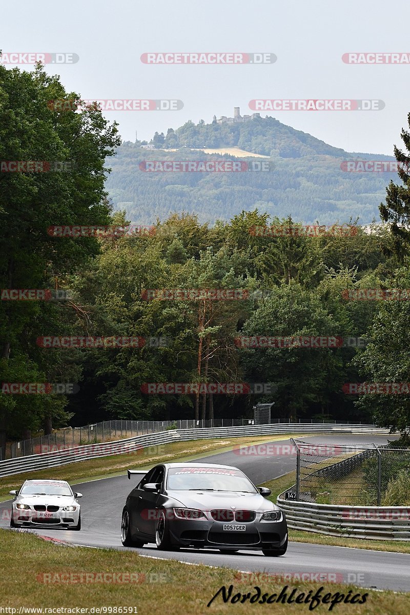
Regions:
<instances>
[{"instance_id":1,"label":"metal guardrail at right, beside the dark grey car","mask_svg":"<svg viewBox=\"0 0 410 615\"><path fill-rule=\"evenodd\" d=\"M292 530L345 538L410 541L410 508L316 504L286 500L284 495L285 492L278 496L277 504Z\"/></svg>"}]
</instances>

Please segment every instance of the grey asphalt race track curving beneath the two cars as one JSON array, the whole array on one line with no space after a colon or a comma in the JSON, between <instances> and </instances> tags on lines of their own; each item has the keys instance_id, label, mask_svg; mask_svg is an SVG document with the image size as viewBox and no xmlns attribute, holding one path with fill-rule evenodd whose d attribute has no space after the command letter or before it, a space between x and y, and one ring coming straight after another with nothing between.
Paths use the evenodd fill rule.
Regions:
<instances>
[{"instance_id":1,"label":"grey asphalt race track curving beneath the two cars","mask_svg":"<svg viewBox=\"0 0 410 615\"><path fill-rule=\"evenodd\" d=\"M301 439L308 439L307 436ZM390 437L392 439L392 437ZM277 445L279 441L272 444ZM326 444L359 444L374 442L384 444L387 438L374 435L320 435L309 437L309 442ZM282 440L281 444L290 444ZM197 462L198 460L195 460ZM239 467L256 485L294 470L294 455L273 456L239 455L235 451L215 454L204 458L206 463L227 464ZM50 477L53 470L50 469ZM15 488L18 488L16 485ZM90 547L125 549L120 542L120 518L125 498L133 486L127 475L104 478L76 485L81 491L82 530L36 530L43 536L51 536L66 542ZM3 510L10 509L10 501L0 502L0 526L9 526ZM127 549L148 557L176 559L209 566L229 566L242 572L259 573L323 573L337 574L337 582L410 592L410 555L362 549L347 549L301 542L291 542L286 555L266 557L261 552L241 550L234 555L223 555L214 549L181 549L177 553L159 551L154 544L142 549ZM263 577L261 577L263 579ZM235 579L232 579L235 584ZM323 582L326 585L326 581ZM256 584L254 582L253 584ZM259 582L266 585L266 582ZM293 582L294 584L294 582Z\"/></svg>"}]
</instances>

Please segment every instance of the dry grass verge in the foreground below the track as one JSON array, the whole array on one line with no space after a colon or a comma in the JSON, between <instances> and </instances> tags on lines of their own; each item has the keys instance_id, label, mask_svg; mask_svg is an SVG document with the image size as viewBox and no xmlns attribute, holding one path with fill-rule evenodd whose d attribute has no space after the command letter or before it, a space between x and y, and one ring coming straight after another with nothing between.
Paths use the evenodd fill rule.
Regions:
<instances>
[{"instance_id":1,"label":"dry grass verge in the foreground below the track","mask_svg":"<svg viewBox=\"0 0 410 615\"><path fill-rule=\"evenodd\" d=\"M76 607L134 607L133 613L138 611L141 615L164 615L164 611L176 612L178 615L223 615L232 613L234 605L234 613L248 613L249 601L236 601L234 605L231 601L224 603L221 593L211 603L210 608L207 608L218 590L223 586L228 590L229 585L233 585L232 596L235 593L246 595L248 592L253 596L256 592L255 585L261 588L262 594L267 593L268 596L272 593L279 595L286 585L288 589L285 592L288 597L294 588L294 596L301 592L306 595L309 590L315 593L319 588L322 597L325 593L333 597L336 592L345 597L349 595L349 590L352 590L350 598L356 593L362 597L366 594L365 606L342 602L333 611L338 615L408 615L410 609L408 593L374 592L329 582L286 584L277 582L277 579L272 582L263 575L259 577L261 581L255 582L252 577L250 580L250 577L244 577L229 568L192 566L114 549L61 547L45 542L34 534L23 535L15 531L0 530L0 561L6 560L7 567L2 572L0 584L0 604L17 609L17 613L20 607L74 608L74 611L71 611L74 613ZM240 556L238 560L239 566L243 567ZM114 573L117 582L112 582ZM131 580L133 582L130 582ZM300 606L298 612L309 613L309 605ZM315 613L328 613L329 606L329 603L320 604L315 608ZM253 603L251 611L267 613L266 607L266 604ZM291 608L286 603L283 605L275 602L268 607L269 613L275 615L290 613ZM114 610L111 610L111 613L114 613Z\"/></svg>"}]
</instances>

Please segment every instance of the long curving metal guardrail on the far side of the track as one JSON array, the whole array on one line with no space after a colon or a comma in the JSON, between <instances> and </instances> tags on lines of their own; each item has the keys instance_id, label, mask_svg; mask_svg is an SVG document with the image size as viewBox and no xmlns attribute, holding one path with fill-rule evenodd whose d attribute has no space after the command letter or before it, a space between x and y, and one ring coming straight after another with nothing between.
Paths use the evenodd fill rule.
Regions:
<instances>
[{"instance_id":1,"label":"long curving metal guardrail on the far side of the track","mask_svg":"<svg viewBox=\"0 0 410 615\"><path fill-rule=\"evenodd\" d=\"M210 429L173 429L170 431L159 432L157 434L146 434L116 442L103 442L100 444L90 444L76 446L74 448L63 448L52 451L30 455L16 459L6 459L0 461L0 478L21 474L23 472L33 472L52 467L63 466L76 461L85 459L102 458L121 453L139 453L146 446L167 444L170 442L187 440L202 440L206 438L224 437L243 437L251 435L280 435L280 434L353 434L363 435L388 435L388 429L382 429L374 425L346 425L346 424L326 424L326 423L276 423L269 425L251 425L243 427L213 427Z\"/></svg>"}]
</instances>

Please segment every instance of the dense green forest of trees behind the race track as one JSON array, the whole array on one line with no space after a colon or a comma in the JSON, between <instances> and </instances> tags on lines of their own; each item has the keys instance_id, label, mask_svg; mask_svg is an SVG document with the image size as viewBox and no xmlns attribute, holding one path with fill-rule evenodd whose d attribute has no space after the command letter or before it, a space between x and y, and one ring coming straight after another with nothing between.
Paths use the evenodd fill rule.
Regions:
<instances>
[{"instance_id":1,"label":"dense green forest of trees behind the race track","mask_svg":"<svg viewBox=\"0 0 410 615\"><path fill-rule=\"evenodd\" d=\"M73 98L41 68L0 66L2 160L75 160L70 173L2 173L1 288L69 290L66 301L0 301L2 383L77 383L76 395L0 394L0 446L6 437L47 433L71 421L109 418L245 417L275 402L276 419L376 421L406 431L407 395L346 395L345 383L405 382L410 350L408 301L355 301L346 289L410 288L410 178L390 184L385 226L349 236L261 237L257 226L298 218L242 210L202 223L192 213L163 216L151 232L117 237L52 237L52 224L125 225L104 189L116 124L96 108L60 113L45 101ZM23 90L30 95L22 95ZM39 127L41 126L41 130ZM403 133L410 151L410 138ZM53 152L52 156L50 151ZM124 152L124 146L122 151ZM409 164L407 154L396 158ZM121 159L121 157L119 157ZM141 173L143 175L143 173ZM254 175L258 175L255 173ZM263 175L259 173L259 175ZM399 181L400 180L400 181ZM228 188L227 188L228 189ZM352 213L353 210L350 212ZM333 220L335 222L336 220ZM339 219L349 223L349 218ZM322 222L322 221L321 221ZM404 225L404 226L403 226ZM248 290L238 301L146 300L148 289ZM40 336L141 336L157 346L44 348ZM240 348L239 335L365 338L365 347ZM272 383L269 395L148 395L144 383ZM142 389L141 389L142 387Z\"/></svg>"}]
</instances>

